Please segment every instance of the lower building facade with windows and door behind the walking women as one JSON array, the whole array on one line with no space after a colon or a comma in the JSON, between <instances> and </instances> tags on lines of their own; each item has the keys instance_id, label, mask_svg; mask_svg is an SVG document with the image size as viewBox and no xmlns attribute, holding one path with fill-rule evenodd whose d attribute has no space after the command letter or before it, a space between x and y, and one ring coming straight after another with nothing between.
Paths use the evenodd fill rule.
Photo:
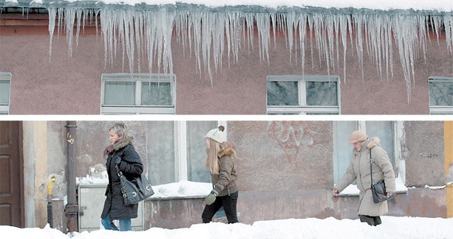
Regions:
<instances>
[{"instance_id":1,"label":"lower building facade with windows and door behind the walking women","mask_svg":"<svg viewBox=\"0 0 453 239\"><path fill-rule=\"evenodd\" d=\"M68 230L65 213L69 194L82 197L91 190L86 185L81 189L80 178L102 177L103 149L108 144L107 131L112 123L0 122L2 152L5 145L11 145L11 151L16 152L9 153L11 160L4 159L10 163L1 164L5 171L7 167L17 168L2 174L16 182L13 187L16 198L11 199L19 202L11 209L16 216L11 218L14 226L45 226L48 185L55 177L53 225ZM240 158L236 168L242 223L282 218L357 218L357 193L352 191L342 197L331 194L350 162L352 146L347 141L355 129L379 136L394 165L397 194L389 202L389 215L452 216L452 187L447 182L453 161L451 121L132 121L127 124L145 173L156 187L181 180L209 183L202 136L218 124L225 125L227 141L236 145ZM71 134L70 126L75 130ZM74 150L74 165L69 163L71 150ZM23 160L17 160L20 156ZM69 173L71 168L74 175ZM6 181L2 178L2 182ZM77 192L69 192L70 184L75 182L80 182ZM96 185L94 180L93 185ZM104 191L105 185L101 195L96 196L99 204L105 199ZM142 204L137 230L182 228L200 223L202 199L147 199ZM75 209L79 220L89 213L80 204ZM94 214L98 220L101 211ZM222 216L217 220L222 221ZM91 230L99 227L98 223L93 224Z\"/></svg>"}]
</instances>

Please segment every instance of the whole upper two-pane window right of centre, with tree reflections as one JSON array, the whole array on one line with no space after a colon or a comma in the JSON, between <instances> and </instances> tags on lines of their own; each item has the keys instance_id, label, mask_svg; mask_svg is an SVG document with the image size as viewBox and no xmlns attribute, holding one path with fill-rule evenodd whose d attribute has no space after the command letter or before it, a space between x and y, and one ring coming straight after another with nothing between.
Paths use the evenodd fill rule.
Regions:
<instances>
[{"instance_id":1,"label":"whole upper two-pane window right of centre, with tree reflections","mask_svg":"<svg viewBox=\"0 0 453 239\"><path fill-rule=\"evenodd\" d=\"M268 115L340 114L339 76L268 76Z\"/></svg>"}]
</instances>

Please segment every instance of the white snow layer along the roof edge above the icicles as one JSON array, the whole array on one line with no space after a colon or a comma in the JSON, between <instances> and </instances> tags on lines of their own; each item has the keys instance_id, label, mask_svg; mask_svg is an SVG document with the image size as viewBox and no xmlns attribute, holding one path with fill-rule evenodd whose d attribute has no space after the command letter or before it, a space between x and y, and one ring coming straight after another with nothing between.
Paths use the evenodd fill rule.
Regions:
<instances>
[{"instance_id":1,"label":"white snow layer along the roof edge above the icicles","mask_svg":"<svg viewBox=\"0 0 453 239\"><path fill-rule=\"evenodd\" d=\"M413 11L413 12L441 12L453 14L453 1L435 1L431 0L67 0L67 1L52 1L52 0L0 0L0 7L47 7L47 6L77 6L77 7L94 7L101 6L173 6L180 8L188 5L195 5L207 8L241 8L241 10L249 8L249 11L257 9L263 11L267 9L291 9L303 8L309 11ZM224 9L225 10L225 9Z\"/></svg>"}]
</instances>

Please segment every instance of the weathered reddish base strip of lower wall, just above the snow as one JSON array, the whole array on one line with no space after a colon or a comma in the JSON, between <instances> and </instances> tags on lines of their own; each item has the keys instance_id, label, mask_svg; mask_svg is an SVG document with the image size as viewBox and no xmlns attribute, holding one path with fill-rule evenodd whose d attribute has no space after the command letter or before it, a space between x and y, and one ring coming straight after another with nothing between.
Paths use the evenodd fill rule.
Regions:
<instances>
[{"instance_id":1,"label":"weathered reddish base strip of lower wall, just above the snow","mask_svg":"<svg viewBox=\"0 0 453 239\"><path fill-rule=\"evenodd\" d=\"M447 216L445 190L411 188L389 201L388 216ZM144 203L144 228L188 228L201 223L203 199L161 199ZM241 223L287 218L357 219L358 196L332 197L331 190L240 191L237 205ZM226 223L226 218L213 221Z\"/></svg>"}]
</instances>

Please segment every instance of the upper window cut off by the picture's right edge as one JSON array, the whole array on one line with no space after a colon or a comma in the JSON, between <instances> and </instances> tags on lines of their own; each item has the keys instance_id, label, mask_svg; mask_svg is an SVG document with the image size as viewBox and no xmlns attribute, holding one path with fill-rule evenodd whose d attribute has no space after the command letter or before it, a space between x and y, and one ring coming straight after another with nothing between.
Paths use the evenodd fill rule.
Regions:
<instances>
[{"instance_id":1,"label":"upper window cut off by the picture's right edge","mask_svg":"<svg viewBox=\"0 0 453 239\"><path fill-rule=\"evenodd\" d=\"M430 114L453 115L453 77L431 76L428 86Z\"/></svg>"}]
</instances>

